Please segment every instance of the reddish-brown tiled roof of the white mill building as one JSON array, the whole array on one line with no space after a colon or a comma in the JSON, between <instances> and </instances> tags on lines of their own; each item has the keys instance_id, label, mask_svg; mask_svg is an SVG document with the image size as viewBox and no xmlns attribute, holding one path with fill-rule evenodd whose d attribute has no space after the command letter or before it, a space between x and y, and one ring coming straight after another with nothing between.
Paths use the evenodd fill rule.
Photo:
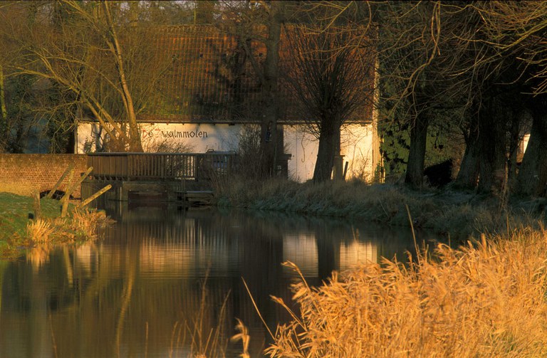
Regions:
<instances>
[{"instance_id":1,"label":"reddish-brown tiled roof of the white mill building","mask_svg":"<svg viewBox=\"0 0 547 358\"><path fill-rule=\"evenodd\" d=\"M286 36L281 36L280 60ZM160 80L160 90L147 100L137 116L141 121L169 122L256 122L259 120L261 88L258 76L238 46L235 36L214 26L168 26L157 29L160 51L170 64ZM266 47L259 41L250 44L261 63ZM303 122L295 110L296 103L280 85L279 122ZM360 121L368 122L370 105L357 111Z\"/></svg>"}]
</instances>

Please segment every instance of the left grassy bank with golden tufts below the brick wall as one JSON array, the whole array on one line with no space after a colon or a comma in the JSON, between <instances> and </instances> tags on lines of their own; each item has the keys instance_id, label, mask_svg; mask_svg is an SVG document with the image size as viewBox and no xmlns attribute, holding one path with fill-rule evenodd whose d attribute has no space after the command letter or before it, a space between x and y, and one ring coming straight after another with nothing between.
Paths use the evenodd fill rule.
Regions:
<instances>
[{"instance_id":1,"label":"left grassy bank with golden tufts below the brick wall","mask_svg":"<svg viewBox=\"0 0 547 358\"><path fill-rule=\"evenodd\" d=\"M18 256L21 248L36 243L70 243L93 238L95 228L106 220L104 213L76 210L69 204L68 216L61 218L58 200L40 200L40 219L33 198L0 193L0 258Z\"/></svg>"}]
</instances>

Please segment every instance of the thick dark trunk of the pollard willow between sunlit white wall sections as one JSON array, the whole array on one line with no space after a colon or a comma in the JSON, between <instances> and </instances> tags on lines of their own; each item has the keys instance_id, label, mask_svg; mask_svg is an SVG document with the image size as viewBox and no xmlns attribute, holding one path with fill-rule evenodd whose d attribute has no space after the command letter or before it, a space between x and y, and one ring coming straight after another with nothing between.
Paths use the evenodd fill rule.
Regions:
<instances>
[{"instance_id":1,"label":"thick dark trunk of the pollard willow between sunlit white wall sections","mask_svg":"<svg viewBox=\"0 0 547 358\"><path fill-rule=\"evenodd\" d=\"M321 120L316 167L313 170L313 181L316 183L330 180L330 175L333 172L336 150L335 137L336 134L339 133L339 130L336 130L337 122L338 121L335 120L335 118L326 115ZM340 126L338 125L338 128L339 127Z\"/></svg>"}]
</instances>

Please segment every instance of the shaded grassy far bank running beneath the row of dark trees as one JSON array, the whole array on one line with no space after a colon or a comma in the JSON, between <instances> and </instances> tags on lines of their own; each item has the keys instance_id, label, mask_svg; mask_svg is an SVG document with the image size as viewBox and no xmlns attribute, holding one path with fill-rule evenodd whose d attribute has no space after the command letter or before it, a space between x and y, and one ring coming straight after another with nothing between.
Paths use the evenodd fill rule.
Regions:
<instances>
[{"instance_id":1,"label":"shaded grassy far bank running beneath the row of dark trees","mask_svg":"<svg viewBox=\"0 0 547 358\"><path fill-rule=\"evenodd\" d=\"M544 219L542 201L513 200L470 191L368 185L362 181L298 184L286 180L266 182L234 180L219 185L217 205L246 209L290 211L337 216L409 226L406 207L417 228L429 228L452 237L479 232L506 231L506 227L534 225Z\"/></svg>"}]
</instances>

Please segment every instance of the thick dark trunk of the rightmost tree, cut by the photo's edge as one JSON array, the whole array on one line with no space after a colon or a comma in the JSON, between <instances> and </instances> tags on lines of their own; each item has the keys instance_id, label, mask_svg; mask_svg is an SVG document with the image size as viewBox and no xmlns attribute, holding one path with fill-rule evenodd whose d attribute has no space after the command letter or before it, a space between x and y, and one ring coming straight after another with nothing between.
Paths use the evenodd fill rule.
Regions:
<instances>
[{"instance_id":1,"label":"thick dark trunk of the rightmost tree, cut by the photo's edge","mask_svg":"<svg viewBox=\"0 0 547 358\"><path fill-rule=\"evenodd\" d=\"M527 196L545 196L547 184L547 115L542 100L533 102L530 140L524 152L516 193Z\"/></svg>"}]
</instances>

